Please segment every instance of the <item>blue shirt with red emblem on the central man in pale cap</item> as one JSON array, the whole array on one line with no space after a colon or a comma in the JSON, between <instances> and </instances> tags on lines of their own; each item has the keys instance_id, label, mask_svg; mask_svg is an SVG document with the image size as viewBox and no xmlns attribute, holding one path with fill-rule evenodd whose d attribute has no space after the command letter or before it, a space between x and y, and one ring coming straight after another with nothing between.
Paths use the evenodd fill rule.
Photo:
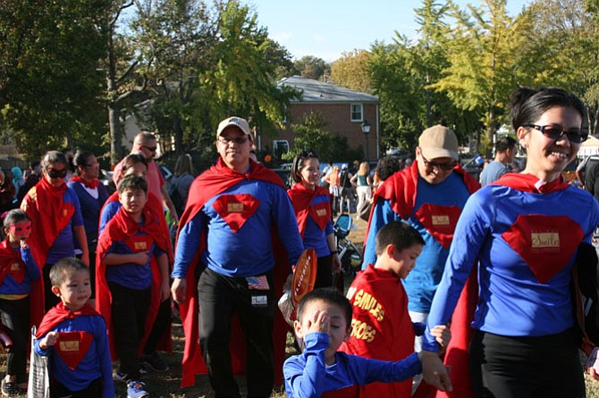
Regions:
<instances>
[{"instance_id":1,"label":"blue shirt with red emblem on the central man in pale cap","mask_svg":"<svg viewBox=\"0 0 599 398\"><path fill-rule=\"evenodd\" d=\"M251 211L244 211L243 215L223 211L227 203L234 207L239 201L246 201ZM185 278L205 228L207 248L200 261L227 277L252 277L273 269L273 228L291 264L298 261L304 249L291 201L283 187L260 180L243 180L208 200L181 228L173 278Z\"/></svg>"}]
</instances>

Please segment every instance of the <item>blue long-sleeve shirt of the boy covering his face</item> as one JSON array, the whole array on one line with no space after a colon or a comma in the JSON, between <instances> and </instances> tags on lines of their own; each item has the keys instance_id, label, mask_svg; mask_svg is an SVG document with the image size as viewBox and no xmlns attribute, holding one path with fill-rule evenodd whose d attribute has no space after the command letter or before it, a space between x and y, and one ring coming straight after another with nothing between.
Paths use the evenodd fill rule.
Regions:
<instances>
[{"instance_id":1,"label":"blue long-sleeve shirt of the boy covering his face","mask_svg":"<svg viewBox=\"0 0 599 398\"><path fill-rule=\"evenodd\" d=\"M329 346L329 336L326 333L309 333L304 342L304 352L283 364L285 393L290 398L316 398L326 391L350 386L404 381L422 371L416 353L393 362L336 352L336 363L326 365L325 350Z\"/></svg>"}]
</instances>

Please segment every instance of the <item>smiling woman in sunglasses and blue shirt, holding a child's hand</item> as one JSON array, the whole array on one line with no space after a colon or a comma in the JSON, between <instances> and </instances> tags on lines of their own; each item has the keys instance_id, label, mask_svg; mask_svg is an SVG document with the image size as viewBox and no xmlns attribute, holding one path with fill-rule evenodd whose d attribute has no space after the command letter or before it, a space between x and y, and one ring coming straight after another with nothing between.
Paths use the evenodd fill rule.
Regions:
<instances>
[{"instance_id":1,"label":"smiling woman in sunglasses and blue shirt, holding a child's hand","mask_svg":"<svg viewBox=\"0 0 599 398\"><path fill-rule=\"evenodd\" d=\"M561 171L587 137L585 108L555 87L520 87L511 101L527 165L477 191L461 213L427 322L424 375L437 387L451 386L429 330L451 319L478 260L469 344L473 394L582 397L572 266L579 245L591 242L599 206L586 191L569 186ZM451 377L460 374L451 369Z\"/></svg>"}]
</instances>

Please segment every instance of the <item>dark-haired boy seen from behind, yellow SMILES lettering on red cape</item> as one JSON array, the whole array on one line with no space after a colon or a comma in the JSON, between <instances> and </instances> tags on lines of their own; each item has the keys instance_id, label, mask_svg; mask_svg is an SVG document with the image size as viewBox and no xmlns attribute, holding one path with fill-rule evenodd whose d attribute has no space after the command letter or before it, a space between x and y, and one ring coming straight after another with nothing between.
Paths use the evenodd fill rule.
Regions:
<instances>
[{"instance_id":1,"label":"dark-haired boy seen from behind, yellow SMILES lettering on red cape","mask_svg":"<svg viewBox=\"0 0 599 398\"><path fill-rule=\"evenodd\" d=\"M352 330L341 351L383 361L399 361L414 352L414 336L421 336L425 325L409 318L402 279L416 265L424 245L418 231L403 221L392 221L378 231L375 264L360 271L348 290ZM440 338L443 332L449 340L449 328L435 328L435 336ZM360 396L409 398L411 390L411 378L407 377L398 383L360 386Z\"/></svg>"}]
</instances>

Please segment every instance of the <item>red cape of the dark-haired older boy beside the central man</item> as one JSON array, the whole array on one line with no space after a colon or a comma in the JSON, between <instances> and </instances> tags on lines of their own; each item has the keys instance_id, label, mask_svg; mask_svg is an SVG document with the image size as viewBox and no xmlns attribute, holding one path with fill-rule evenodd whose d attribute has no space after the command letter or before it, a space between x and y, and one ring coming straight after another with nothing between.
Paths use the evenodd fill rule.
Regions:
<instances>
[{"instance_id":1,"label":"red cape of the dark-haired older boy beside the central man","mask_svg":"<svg viewBox=\"0 0 599 398\"><path fill-rule=\"evenodd\" d=\"M156 216L156 213L146 206L143 210L143 216L145 221L144 226L142 227L121 207L121 209L114 215L114 218L108 221L97 242L96 309L102 314L106 321L109 337L108 341L113 361L118 358L118 354L114 348L112 294L110 294L110 289L108 288L108 283L106 281L105 255L108 253L108 250L113 245L114 241L127 242L131 239L131 236L134 236L139 230L143 231L148 236L151 236L161 250L167 252L169 247L169 235L164 234L158 220L159 217ZM146 318L145 333L139 344L139 355L141 355L146 340L148 340L148 336L152 331L154 321L156 320L156 314L158 313L158 307L160 306L160 285L162 277L154 256L152 256L150 261L150 268L152 269L151 301L149 303L148 317ZM166 350L169 351L169 348L170 347L166 347Z\"/></svg>"}]
</instances>

